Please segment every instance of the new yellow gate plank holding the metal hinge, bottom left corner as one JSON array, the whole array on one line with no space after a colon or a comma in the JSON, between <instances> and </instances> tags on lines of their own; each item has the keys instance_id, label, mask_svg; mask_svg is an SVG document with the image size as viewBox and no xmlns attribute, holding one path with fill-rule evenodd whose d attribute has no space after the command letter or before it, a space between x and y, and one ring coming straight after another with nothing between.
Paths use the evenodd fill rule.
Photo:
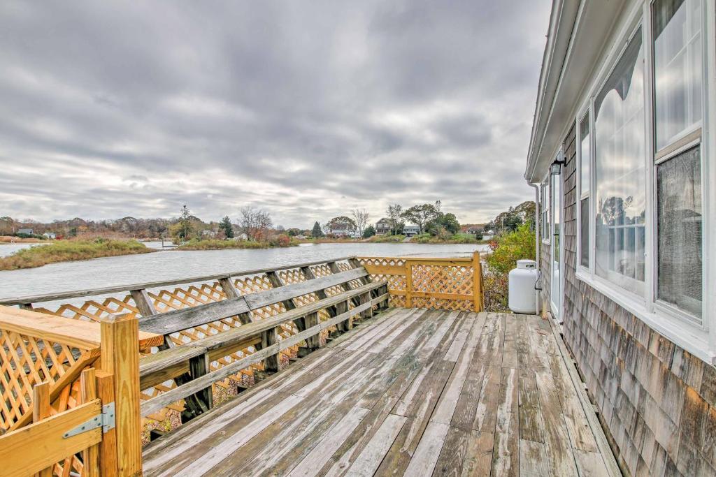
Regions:
<instances>
[{"instance_id":1,"label":"new yellow gate plank holding the metal hinge, bottom left corner","mask_svg":"<svg viewBox=\"0 0 716 477\"><path fill-rule=\"evenodd\" d=\"M100 400L58 413L0 437L5 476L27 476L42 471L74 453L102 441L102 428L64 438L64 433L102 413Z\"/></svg>"}]
</instances>

